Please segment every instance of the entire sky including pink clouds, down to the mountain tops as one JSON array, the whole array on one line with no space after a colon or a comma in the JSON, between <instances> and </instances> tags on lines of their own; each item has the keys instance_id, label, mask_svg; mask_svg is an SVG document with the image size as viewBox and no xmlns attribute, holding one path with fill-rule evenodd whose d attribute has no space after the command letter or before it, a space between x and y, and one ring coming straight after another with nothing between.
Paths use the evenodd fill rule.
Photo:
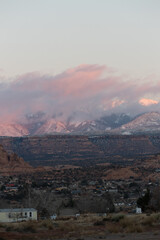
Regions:
<instances>
[{"instance_id":1,"label":"entire sky including pink clouds, down to the mountain tops","mask_svg":"<svg viewBox=\"0 0 160 240\"><path fill-rule=\"evenodd\" d=\"M159 110L159 25L159 0L0 0L1 119Z\"/></svg>"}]
</instances>

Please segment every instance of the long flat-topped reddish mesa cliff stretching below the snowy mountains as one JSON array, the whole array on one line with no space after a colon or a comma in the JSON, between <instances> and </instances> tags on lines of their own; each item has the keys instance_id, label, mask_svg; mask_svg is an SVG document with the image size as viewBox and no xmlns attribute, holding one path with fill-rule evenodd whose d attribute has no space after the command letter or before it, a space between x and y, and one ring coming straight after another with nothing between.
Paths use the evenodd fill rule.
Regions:
<instances>
[{"instance_id":1,"label":"long flat-topped reddish mesa cliff stretching below the snowy mountains","mask_svg":"<svg viewBox=\"0 0 160 240\"><path fill-rule=\"evenodd\" d=\"M160 135L5 137L0 138L0 144L32 166L126 164L160 153Z\"/></svg>"}]
</instances>

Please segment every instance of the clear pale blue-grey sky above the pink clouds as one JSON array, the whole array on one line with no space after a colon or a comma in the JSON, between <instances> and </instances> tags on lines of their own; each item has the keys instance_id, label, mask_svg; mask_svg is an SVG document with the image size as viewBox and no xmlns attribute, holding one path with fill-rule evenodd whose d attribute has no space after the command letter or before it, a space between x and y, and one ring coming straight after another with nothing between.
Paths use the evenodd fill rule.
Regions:
<instances>
[{"instance_id":1,"label":"clear pale blue-grey sky above the pink clouds","mask_svg":"<svg viewBox=\"0 0 160 240\"><path fill-rule=\"evenodd\" d=\"M95 63L160 76L160 1L0 0L0 75Z\"/></svg>"}]
</instances>

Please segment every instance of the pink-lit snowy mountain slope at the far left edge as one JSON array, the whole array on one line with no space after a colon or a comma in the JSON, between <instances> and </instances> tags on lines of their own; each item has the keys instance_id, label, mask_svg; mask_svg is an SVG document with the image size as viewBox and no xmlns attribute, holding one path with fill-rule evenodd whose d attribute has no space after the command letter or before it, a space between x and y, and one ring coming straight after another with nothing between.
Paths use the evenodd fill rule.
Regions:
<instances>
[{"instance_id":1,"label":"pink-lit snowy mountain slope at the far left edge","mask_svg":"<svg viewBox=\"0 0 160 240\"><path fill-rule=\"evenodd\" d=\"M20 124L0 123L0 136L21 137L28 134L27 128Z\"/></svg>"}]
</instances>

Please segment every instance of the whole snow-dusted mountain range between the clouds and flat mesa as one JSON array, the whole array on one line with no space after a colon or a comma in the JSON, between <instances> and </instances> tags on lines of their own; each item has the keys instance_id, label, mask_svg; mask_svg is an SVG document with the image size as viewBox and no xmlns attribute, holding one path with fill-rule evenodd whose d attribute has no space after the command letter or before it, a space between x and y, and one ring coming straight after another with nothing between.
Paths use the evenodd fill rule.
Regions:
<instances>
[{"instance_id":1,"label":"whole snow-dusted mountain range between the clouds and flat mesa","mask_svg":"<svg viewBox=\"0 0 160 240\"><path fill-rule=\"evenodd\" d=\"M146 134L160 132L160 113L149 112L136 117L111 114L89 121L58 121L32 115L24 123L0 123L0 136L39 136L54 134Z\"/></svg>"}]
</instances>

